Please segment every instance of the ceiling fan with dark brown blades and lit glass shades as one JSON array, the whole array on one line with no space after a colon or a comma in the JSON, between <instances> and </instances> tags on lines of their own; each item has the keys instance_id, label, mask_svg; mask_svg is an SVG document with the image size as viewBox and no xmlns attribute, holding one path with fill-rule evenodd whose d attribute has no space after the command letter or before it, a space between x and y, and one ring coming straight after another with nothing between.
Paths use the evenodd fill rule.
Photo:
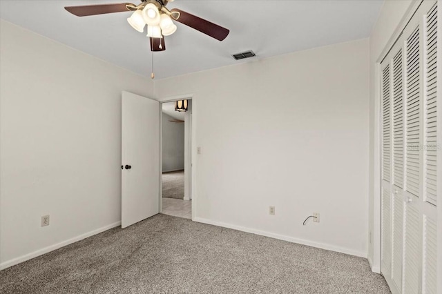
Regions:
<instances>
[{"instance_id":1,"label":"ceiling fan with dark brown blades and lit glass shades","mask_svg":"<svg viewBox=\"0 0 442 294\"><path fill-rule=\"evenodd\" d=\"M226 39L229 30L215 23L206 21L183 10L173 8L169 10L166 5L173 0L141 0L139 5L133 3L109 3L88 6L67 6L68 12L78 17L89 15L106 14L113 12L133 11L128 23L137 31L144 32L147 24L147 37L150 37L151 50L166 50L164 36L172 35L177 27L172 20L183 23L186 26L199 30L219 41Z\"/></svg>"}]
</instances>

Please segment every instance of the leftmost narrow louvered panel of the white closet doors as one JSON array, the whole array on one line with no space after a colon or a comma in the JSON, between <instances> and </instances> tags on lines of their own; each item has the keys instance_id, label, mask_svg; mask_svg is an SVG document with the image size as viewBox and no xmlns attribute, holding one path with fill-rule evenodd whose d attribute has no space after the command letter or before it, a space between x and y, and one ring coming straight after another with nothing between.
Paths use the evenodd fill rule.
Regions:
<instances>
[{"instance_id":1,"label":"leftmost narrow louvered panel of the white closet doors","mask_svg":"<svg viewBox=\"0 0 442 294\"><path fill-rule=\"evenodd\" d=\"M392 263L392 77L390 61L382 63L382 146L381 146L381 271L390 277Z\"/></svg>"}]
</instances>

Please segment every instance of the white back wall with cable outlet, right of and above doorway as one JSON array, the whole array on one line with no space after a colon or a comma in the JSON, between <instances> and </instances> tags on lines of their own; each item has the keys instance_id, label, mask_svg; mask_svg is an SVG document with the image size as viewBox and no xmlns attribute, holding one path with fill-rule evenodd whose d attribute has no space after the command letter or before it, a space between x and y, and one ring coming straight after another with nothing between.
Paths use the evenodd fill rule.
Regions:
<instances>
[{"instance_id":1,"label":"white back wall with cable outlet, right of and above doorway","mask_svg":"<svg viewBox=\"0 0 442 294\"><path fill-rule=\"evenodd\" d=\"M367 255L368 39L155 81L189 93L195 220Z\"/></svg>"}]
</instances>

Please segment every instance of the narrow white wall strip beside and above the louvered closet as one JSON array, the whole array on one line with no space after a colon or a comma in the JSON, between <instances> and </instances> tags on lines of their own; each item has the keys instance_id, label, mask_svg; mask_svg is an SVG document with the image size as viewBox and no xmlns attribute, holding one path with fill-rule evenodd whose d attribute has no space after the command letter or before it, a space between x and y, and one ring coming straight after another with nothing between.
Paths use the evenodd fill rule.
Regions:
<instances>
[{"instance_id":1,"label":"narrow white wall strip beside and above the louvered closet","mask_svg":"<svg viewBox=\"0 0 442 294\"><path fill-rule=\"evenodd\" d=\"M394 31L401 23L403 17L413 3L413 0L398 1L398 0L386 0L384 1L381 13L376 21L376 25L372 30L370 36L370 124L369 124L369 235L371 232L372 239L369 240L369 254L368 258L372 263L372 269L376 272L381 270L381 252L380 252L380 197L376 193L379 193L380 187L376 184L375 179L380 178L380 175L376 173L376 170L380 168L380 162L374 160L375 147L380 148L378 137L376 137L375 130L378 128L378 119L376 117L376 62L381 57L383 50L387 47L387 43L392 38ZM377 181L378 182L378 181ZM376 193L375 193L376 191ZM376 198L375 198L376 196ZM377 246L374 246L377 244Z\"/></svg>"}]
</instances>

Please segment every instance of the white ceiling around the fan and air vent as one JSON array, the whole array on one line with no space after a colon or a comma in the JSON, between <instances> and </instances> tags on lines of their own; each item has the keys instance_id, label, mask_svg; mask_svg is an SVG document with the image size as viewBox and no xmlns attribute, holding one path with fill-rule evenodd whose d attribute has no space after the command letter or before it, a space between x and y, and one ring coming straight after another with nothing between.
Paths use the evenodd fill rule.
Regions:
<instances>
[{"instance_id":1,"label":"white ceiling around the fan and air vent","mask_svg":"<svg viewBox=\"0 0 442 294\"><path fill-rule=\"evenodd\" d=\"M128 1L128 0L126 0ZM122 0L1 0L0 17L41 35L127 68L151 74L151 52L145 33L126 18L131 12L75 17L64 6L120 3ZM135 4L139 0L131 1ZM175 0L167 6L229 28L224 41L177 23L166 37L166 51L155 52L157 79L249 62L289 52L369 37L383 0ZM231 55L253 50L257 57Z\"/></svg>"}]
</instances>

